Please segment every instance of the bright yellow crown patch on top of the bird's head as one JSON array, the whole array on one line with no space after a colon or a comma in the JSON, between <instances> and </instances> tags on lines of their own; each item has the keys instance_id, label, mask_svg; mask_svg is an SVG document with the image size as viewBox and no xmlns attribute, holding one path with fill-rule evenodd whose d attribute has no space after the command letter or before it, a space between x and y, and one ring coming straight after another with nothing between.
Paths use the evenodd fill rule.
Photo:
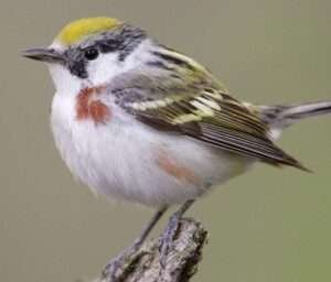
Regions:
<instances>
[{"instance_id":1,"label":"bright yellow crown patch on top of the bird's head","mask_svg":"<svg viewBox=\"0 0 331 282\"><path fill-rule=\"evenodd\" d=\"M84 37L94 33L114 30L121 24L113 18L97 17L86 18L68 23L56 36L56 41L63 45L78 43Z\"/></svg>"}]
</instances>

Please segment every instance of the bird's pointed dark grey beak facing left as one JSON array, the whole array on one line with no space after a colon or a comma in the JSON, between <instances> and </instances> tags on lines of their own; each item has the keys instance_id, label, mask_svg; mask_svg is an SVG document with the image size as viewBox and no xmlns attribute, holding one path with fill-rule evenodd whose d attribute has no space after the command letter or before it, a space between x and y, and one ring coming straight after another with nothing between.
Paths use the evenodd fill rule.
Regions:
<instances>
[{"instance_id":1,"label":"bird's pointed dark grey beak facing left","mask_svg":"<svg viewBox=\"0 0 331 282\"><path fill-rule=\"evenodd\" d=\"M45 63L65 63L65 56L53 48L29 48L23 51L22 56Z\"/></svg>"}]
</instances>

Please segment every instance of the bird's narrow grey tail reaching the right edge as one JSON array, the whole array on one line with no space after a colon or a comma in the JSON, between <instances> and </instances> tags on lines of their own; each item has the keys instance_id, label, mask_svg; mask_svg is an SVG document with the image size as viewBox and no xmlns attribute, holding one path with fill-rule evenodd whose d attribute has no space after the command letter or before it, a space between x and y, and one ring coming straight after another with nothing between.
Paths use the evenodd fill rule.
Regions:
<instances>
[{"instance_id":1,"label":"bird's narrow grey tail reaching the right edge","mask_svg":"<svg viewBox=\"0 0 331 282\"><path fill-rule=\"evenodd\" d=\"M331 113L331 101L309 102L297 106L259 106L259 109L261 119L269 124L270 129L281 132L301 119Z\"/></svg>"}]
</instances>

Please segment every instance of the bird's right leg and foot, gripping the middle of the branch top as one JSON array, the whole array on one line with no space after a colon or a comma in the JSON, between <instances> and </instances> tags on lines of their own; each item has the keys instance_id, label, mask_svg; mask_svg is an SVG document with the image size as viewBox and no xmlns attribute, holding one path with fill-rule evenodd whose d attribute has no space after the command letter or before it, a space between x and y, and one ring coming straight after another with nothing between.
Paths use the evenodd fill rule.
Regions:
<instances>
[{"instance_id":1,"label":"bird's right leg and foot, gripping the middle of the branch top","mask_svg":"<svg viewBox=\"0 0 331 282\"><path fill-rule=\"evenodd\" d=\"M166 267L167 263L167 256L169 250L171 249L175 231L178 230L180 219L185 214L185 212L193 205L195 200L190 199L185 202L175 213L173 213L169 219L168 226L166 227L166 230L163 231L162 238L161 238L161 258L160 263L162 268Z\"/></svg>"}]
</instances>

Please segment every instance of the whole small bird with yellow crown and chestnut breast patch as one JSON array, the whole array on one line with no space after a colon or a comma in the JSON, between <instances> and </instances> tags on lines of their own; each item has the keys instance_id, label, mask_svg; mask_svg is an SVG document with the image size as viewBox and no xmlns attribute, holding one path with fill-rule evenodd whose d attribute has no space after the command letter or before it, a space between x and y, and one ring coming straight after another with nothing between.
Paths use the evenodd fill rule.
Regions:
<instances>
[{"instance_id":1,"label":"whole small bird with yellow crown and chestnut breast patch","mask_svg":"<svg viewBox=\"0 0 331 282\"><path fill-rule=\"evenodd\" d=\"M50 69L52 132L75 177L156 210L131 250L180 205L163 232L167 253L193 203L257 162L309 172L276 141L290 124L331 112L331 101L241 101L205 66L115 18L75 20L50 46L22 55Z\"/></svg>"}]
</instances>

